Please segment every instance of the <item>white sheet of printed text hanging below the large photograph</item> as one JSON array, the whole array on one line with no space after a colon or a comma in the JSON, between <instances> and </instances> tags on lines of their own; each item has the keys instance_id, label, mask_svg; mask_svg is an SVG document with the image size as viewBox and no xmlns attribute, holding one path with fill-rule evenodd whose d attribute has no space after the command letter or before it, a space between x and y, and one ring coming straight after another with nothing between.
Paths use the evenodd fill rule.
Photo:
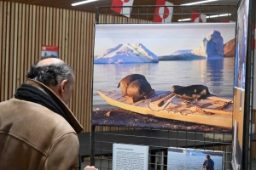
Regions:
<instances>
[{"instance_id":1,"label":"white sheet of printed text hanging below the large photograph","mask_svg":"<svg viewBox=\"0 0 256 170\"><path fill-rule=\"evenodd\" d=\"M148 170L148 146L113 144L113 170Z\"/></svg>"}]
</instances>

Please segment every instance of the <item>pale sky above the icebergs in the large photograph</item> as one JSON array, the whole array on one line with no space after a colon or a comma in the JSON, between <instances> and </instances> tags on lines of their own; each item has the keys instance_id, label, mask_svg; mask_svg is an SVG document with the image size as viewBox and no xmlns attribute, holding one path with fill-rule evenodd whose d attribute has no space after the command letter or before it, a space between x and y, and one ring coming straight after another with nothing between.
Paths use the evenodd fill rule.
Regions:
<instances>
[{"instance_id":1,"label":"pale sky above the icebergs in the large photograph","mask_svg":"<svg viewBox=\"0 0 256 170\"><path fill-rule=\"evenodd\" d=\"M194 49L211 31L220 31L224 43L235 37L236 23L96 25L95 55L119 43L140 42L156 55Z\"/></svg>"}]
</instances>

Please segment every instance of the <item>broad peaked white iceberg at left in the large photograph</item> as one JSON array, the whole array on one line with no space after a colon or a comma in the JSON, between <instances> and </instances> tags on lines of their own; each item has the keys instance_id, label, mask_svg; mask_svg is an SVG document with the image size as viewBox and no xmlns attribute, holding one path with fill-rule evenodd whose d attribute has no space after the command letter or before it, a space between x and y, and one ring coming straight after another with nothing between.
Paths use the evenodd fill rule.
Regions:
<instances>
[{"instance_id":1,"label":"broad peaked white iceberg at left in the large photograph","mask_svg":"<svg viewBox=\"0 0 256 170\"><path fill-rule=\"evenodd\" d=\"M142 43L119 44L94 59L95 64L157 63L158 57Z\"/></svg>"}]
</instances>

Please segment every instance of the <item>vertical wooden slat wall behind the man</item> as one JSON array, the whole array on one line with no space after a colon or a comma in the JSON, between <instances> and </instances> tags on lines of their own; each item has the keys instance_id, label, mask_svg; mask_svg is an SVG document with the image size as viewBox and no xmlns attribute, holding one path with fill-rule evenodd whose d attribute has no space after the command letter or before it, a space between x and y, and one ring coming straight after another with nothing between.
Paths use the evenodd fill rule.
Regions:
<instances>
[{"instance_id":1,"label":"vertical wooden slat wall behind the man","mask_svg":"<svg viewBox=\"0 0 256 170\"><path fill-rule=\"evenodd\" d=\"M100 20L128 21L118 16ZM84 132L90 132L94 22L93 13L0 1L0 101L11 99L26 82L26 72L40 59L41 46L56 45L60 59L72 65L77 80L69 107Z\"/></svg>"}]
</instances>

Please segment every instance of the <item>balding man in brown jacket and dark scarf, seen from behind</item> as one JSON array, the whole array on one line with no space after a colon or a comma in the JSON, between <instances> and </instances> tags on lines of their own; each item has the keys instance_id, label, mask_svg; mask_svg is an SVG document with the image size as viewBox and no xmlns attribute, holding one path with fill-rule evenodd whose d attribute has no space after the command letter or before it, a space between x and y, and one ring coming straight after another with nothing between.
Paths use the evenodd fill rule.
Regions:
<instances>
[{"instance_id":1,"label":"balding man in brown jacket and dark scarf, seen from behind","mask_svg":"<svg viewBox=\"0 0 256 170\"><path fill-rule=\"evenodd\" d=\"M67 104L73 69L61 59L32 65L14 99L0 103L0 169L79 169L83 127Z\"/></svg>"}]
</instances>

